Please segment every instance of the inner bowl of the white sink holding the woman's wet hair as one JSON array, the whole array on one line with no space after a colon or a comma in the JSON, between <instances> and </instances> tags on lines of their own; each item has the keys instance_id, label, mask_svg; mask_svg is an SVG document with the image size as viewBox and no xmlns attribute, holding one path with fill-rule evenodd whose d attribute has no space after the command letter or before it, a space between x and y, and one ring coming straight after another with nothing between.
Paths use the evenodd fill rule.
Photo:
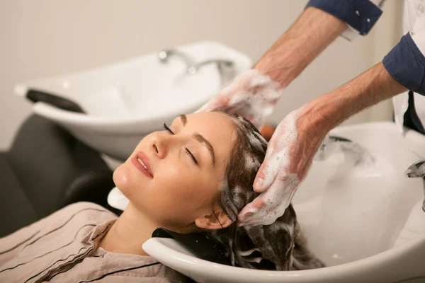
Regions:
<instances>
[{"instance_id":1,"label":"inner bowl of the white sink holding the woman's wet hair","mask_svg":"<svg viewBox=\"0 0 425 283\"><path fill-rule=\"evenodd\" d=\"M344 166L341 151L327 161L314 161L293 199L310 248L329 265L367 258L394 246L409 212L424 197L421 180L404 171L425 160L425 137L406 137L392 122L336 128L341 137L364 146L372 166ZM424 218L425 219L425 218Z\"/></svg>"}]
</instances>

